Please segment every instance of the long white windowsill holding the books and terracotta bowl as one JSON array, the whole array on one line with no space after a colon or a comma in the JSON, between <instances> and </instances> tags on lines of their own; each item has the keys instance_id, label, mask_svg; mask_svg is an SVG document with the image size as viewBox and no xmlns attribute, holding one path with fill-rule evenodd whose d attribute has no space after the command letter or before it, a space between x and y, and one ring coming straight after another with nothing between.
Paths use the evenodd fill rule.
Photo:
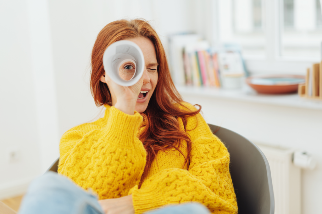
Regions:
<instances>
[{"instance_id":1,"label":"long white windowsill holding the books and terracotta bowl","mask_svg":"<svg viewBox=\"0 0 322 214\"><path fill-rule=\"evenodd\" d=\"M176 86L176 88L183 96L194 95L205 98L220 98L226 100L252 102L283 107L322 110L321 100L300 98L298 94L258 94L255 90L251 89L247 85L238 90L225 90L193 86Z\"/></svg>"}]
</instances>

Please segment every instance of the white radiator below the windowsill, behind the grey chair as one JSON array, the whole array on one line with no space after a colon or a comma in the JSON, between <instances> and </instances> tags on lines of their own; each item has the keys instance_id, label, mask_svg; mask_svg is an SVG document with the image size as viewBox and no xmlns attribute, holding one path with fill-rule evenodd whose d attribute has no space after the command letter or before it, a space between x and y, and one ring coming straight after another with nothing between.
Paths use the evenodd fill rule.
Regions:
<instances>
[{"instance_id":1,"label":"white radiator below the windowsill, behind the grey chair","mask_svg":"<svg viewBox=\"0 0 322 214\"><path fill-rule=\"evenodd\" d=\"M256 145L263 151L270 164L275 214L300 214L301 169L292 163L294 150Z\"/></svg>"}]
</instances>

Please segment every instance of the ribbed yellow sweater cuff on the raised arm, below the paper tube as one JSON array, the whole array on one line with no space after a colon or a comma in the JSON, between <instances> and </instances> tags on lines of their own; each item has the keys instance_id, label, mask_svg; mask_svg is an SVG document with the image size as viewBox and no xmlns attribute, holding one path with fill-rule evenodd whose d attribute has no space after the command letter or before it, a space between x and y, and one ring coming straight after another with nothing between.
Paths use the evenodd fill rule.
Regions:
<instances>
[{"instance_id":1,"label":"ribbed yellow sweater cuff on the raised arm, below the paper tube","mask_svg":"<svg viewBox=\"0 0 322 214\"><path fill-rule=\"evenodd\" d=\"M133 139L137 136L142 121L143 117L137 112L134 112L134 115L128 115L115 107L111 107L106 124L108 136L113 141Z\"/></svg>"}]
</instances>

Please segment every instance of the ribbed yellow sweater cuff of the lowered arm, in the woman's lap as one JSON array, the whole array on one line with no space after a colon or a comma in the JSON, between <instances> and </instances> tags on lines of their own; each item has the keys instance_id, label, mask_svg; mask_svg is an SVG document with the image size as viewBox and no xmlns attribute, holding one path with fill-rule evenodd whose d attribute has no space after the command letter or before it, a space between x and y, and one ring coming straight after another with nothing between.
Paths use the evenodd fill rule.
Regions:
<instances>
[{"instance_id":1,"label":"ribbed yellow sweater cuff of the lowered arm, in the woman's lap","mask_svg":"<svg viewBox=\"0 0 322 214\"><path fill-rule=\"evenodd\" d=\"M167 204L164 193L157 188L138 189L135 186L130 190L130 193L132 193L135 214L145 213Z\"/></svg>"}]
</instances>

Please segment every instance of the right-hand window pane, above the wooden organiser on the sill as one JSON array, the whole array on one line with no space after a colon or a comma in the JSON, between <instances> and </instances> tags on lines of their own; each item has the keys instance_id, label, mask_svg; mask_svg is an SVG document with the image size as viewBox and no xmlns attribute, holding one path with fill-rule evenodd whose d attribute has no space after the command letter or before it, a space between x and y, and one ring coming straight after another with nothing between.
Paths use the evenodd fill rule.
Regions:
<instances>
[{"instance_id":1,"label":"right-hand window pane, above the wooden organiser on the sill","mask_svg":"<svg viewBox=\"0 0 322 214\"><path fill-rule=\"evenodd\" d=\"M320 57L322 20L319 0L282 0L281 55Z\"/></svg>"}]
</instances>

